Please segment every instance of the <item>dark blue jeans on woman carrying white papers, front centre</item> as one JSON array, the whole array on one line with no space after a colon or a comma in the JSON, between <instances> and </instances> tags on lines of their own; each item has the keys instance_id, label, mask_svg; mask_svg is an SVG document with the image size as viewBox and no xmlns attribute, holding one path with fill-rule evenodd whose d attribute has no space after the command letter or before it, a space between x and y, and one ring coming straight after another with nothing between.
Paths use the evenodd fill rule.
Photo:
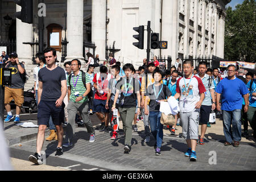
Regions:
<instances>
[{"instance_id":1,"label":"dark blue jeans on woman carrying white papers, front centre","mask_svg":"<svg viewBox=\"0 0 256 182\"><path fill-rule=\"evenodd\" d=\"M150 129L156 140L156 147L161 148L163 141L163 125L160 122L161 112L150 111L149 117Z\"/></svg>"}]
</instances>

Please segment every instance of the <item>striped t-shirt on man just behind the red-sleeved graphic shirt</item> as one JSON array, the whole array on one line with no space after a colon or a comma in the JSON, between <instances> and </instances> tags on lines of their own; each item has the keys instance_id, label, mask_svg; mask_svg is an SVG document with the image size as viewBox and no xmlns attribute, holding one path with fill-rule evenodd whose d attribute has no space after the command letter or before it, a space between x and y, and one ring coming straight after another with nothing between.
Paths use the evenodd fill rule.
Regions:
<instances>
[{"instance_id":1,"label":"striped t-shirt on man just behind the red-sleeved graphic shirt","mask_svg":"<svg viewBox=\"0 0 256 182\"><path fill-rule=\"evenodd\" d=\"M198 74L196 75L197 77L201 78ZM204 74L204 77L201 78L205 89L207 92L205 92L205 97L204 101L202 102L202 105L204 106L211 106L212 105L212 96L210 94L210 89L214 89L214 82L213 80L210 80L210 76L207 74ZM210 83L210 88L209 88L209 83Z\"/></svg>"}]
</instances>

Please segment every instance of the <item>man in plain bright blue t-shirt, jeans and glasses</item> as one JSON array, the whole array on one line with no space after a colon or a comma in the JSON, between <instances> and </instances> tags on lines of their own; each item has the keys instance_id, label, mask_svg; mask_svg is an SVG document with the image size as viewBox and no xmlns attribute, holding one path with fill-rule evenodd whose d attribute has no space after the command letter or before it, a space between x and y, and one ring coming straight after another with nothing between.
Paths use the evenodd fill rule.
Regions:
<instances>
[{"instance_id":1,"label":"man in plain bright blue t-shirt, jeans and glasses","mask_svg":"<svg viewBox=\"0 0 256 182\"><path fill-rule=\"evenodd\" d=\"M243 98L245 99L245 113L248 110L249 93L245 83L236 78L236 67L234 65L228 66L228 77L221 80L216 88L217 93L217 109L222 110L224 135L226 137L225 146L230 146L234 140L234 147L238 147L241 140L241 109ZM220 106L220 97L221 106ZM232 125L232 129L231 129Z\"/></svg>"}]
</instances>

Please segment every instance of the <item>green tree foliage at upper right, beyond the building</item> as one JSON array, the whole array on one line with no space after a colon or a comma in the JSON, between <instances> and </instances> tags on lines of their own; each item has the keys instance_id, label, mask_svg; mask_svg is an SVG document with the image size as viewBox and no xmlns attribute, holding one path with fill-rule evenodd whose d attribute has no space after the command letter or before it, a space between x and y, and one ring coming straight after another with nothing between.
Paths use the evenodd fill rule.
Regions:
<instances>
[{"instance_id":1,"label":"green tree foliage at upper right, beyond the building","mask_svg":"<svg viewBox=\"0 0 256 182\"><path fill-rule=\"evenodd\" d=\"M225 20L226 60L255 63L256 60L256 2L245 0L235 10L228 7Z\"/></svg>"}]
</instances>

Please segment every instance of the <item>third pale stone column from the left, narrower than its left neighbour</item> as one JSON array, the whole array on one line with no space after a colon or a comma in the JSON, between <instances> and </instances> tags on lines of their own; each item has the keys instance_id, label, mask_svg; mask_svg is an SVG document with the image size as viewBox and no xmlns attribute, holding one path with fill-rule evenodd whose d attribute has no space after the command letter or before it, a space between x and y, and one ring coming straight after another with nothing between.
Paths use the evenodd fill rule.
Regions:
<instances>
[{"instance_id":1,"label":"third pale stone column from the left, narrower than its left neighbour","mask_svg":"<svg viewBox=\"0 0 256 182\"><path fill-rule=\"evenodd\" d=\"M110 20L111 21L111 20ZM120 25L121 26L121 25ZM110 27L111 29L111 27ZM111 30L114 31L114 30ZM95 54L100 60L106 55L106 0L92 1L92 42L95 43Z\"/></svg>"}]
</instances>

